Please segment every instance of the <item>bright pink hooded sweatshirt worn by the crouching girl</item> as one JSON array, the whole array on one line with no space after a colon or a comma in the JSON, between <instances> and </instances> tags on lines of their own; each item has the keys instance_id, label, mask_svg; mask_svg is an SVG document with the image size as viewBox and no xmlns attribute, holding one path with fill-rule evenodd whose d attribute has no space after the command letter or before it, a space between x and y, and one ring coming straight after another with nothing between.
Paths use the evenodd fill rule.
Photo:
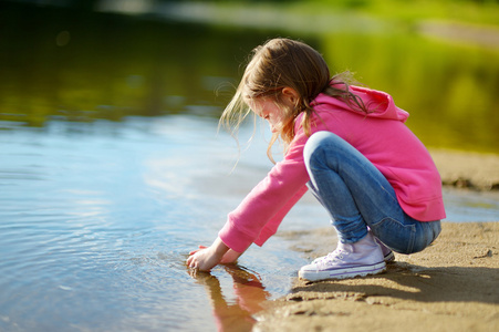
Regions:
<instances>
[{"instance_id":1,"label":"bright pink hooded sweatshirt worn by the crouching girl","mask_svg":"<svg viewBox=\"0 0 499 332\"><path fill-rule=\"evenodd\" d=\"M420 221L445 218L441 180L423 143L405 126L408 113L395 106L387 93L350 86L372 111L353 111L344 102L320 94L312 103L312 133L332 132L360 151L391 183L404 211ZM309 139L295 121L295 136L278 163L228 215L220 239L243 252L252 242L262 246L306 191L310 180L303 162Z\"/></svg>"}]
</instances>

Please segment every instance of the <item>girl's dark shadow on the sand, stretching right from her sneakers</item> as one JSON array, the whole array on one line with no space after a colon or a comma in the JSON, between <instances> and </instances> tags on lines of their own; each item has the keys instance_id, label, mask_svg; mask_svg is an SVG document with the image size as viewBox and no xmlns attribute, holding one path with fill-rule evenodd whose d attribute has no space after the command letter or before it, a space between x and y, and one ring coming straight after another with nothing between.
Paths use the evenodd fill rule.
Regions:
<instances>
[{"instance_id":1,"label":"girl's dark shadow on the sand, stretching right from her sneakers","mask_svg":"<svg viewBox=\"0 0 499 332\"><path fill-rule=\"evenodd\" d=\"M472 284L474 287L469 287ZM287 298L392 298L417 302L481 302L499 304L499 269L485 267L426 268L406 262L388 264L383 274L339 281L300 282ZM324 294L326 293L325 297Z\"/></svg>"}]
</instances>

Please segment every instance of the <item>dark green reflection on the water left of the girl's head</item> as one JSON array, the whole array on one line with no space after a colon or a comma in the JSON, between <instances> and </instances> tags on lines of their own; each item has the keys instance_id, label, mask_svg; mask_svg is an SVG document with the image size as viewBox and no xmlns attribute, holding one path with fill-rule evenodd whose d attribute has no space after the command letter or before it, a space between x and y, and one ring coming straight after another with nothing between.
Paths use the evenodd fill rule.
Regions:
<instances>
[{"instance_id":1,"label":"dark green reflection on the water left of the girl's head","mask_svg":"<svg viewBox=\"0 0 499 332\"><path fill-rule=\"evenodd\" d=\"M0 121L29 126L199 106L218 116L227 98L215 91L233 82L239 62L266 39L64 8L2 7Z\"/></svg>"}]
</instances>

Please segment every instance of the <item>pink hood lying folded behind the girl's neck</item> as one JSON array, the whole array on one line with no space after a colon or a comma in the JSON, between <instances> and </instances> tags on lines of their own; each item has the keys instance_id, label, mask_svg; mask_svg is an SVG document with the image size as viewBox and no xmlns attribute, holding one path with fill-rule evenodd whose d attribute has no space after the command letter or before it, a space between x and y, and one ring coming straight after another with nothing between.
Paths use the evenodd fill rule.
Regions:
<instances>
[{"instance_id":1,"label":"pink hood lying folded behind the girl's neck","mask_svg":"<svg viewBox=\"0 0 499 332\"><path fill-rule=\"evenodd\" d=\"M343 111L350 111L358 113L367 117L377 117L385 120L397 120L405 122L409 114L404 110L395 106L395 103L389 94L382 91L371 90L366 87L350 85L350 91L357 95L364 105L367 107L368 113L365 114L362 111L353 110L349 104L340 98L329 96L324 93L320 93L315 100L311 103L314 110L331 110L331 107Z\"/></svg>"}]
</instances>

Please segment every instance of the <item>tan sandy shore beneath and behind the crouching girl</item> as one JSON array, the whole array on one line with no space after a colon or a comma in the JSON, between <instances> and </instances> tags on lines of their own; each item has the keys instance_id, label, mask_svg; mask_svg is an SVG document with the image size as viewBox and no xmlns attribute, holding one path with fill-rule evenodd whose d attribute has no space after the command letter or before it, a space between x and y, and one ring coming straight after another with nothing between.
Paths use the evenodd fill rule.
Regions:
<instances>
[{"instance_id":1,"label":"tan sandy shore beneath and behind the crouching girl","mask_svg":"<svg viewBox=\"0 0 499 332\"><path fill-rule=\"evenodd\" d=\"M484 190L499 184L497 155L432 154L446 185ZM333 249L332 231L282 236L312 259ZM287 297L264 307L254 331L499 331L499 222L446 221L429 248L396 255L382 274L297 279Z\"/></svg>"}]
</instances>

